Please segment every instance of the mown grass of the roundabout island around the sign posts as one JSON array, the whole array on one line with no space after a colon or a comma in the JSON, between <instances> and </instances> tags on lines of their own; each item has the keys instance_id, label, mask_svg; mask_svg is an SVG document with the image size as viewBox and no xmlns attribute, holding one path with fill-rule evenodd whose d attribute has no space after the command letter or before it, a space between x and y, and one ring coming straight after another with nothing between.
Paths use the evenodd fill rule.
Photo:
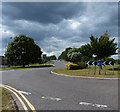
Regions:
<instances>
[{"instance_id":1,"label":"mown grass of the roundabout island around the sign posts","mask_svg":"<svg viewBox=\"0 0 120 112\"><path fill-rule=\"evenodd\" d=\"M64 75L73 75L73 76L85 76L85 77L104 77L104 78L120 78L119 74L120 68L117 66L114 68L114 74L112 71L111 66L106 66L106 75L104 72L104 67L101 69L101 74L98 72L98 67L96 67L96 74L94 74L94 67L90 67L90 73L89 69L78 69L78 70L67 70L66 68L62 69L56 69L53 70L53 72L58 74L64 74ZM89 74L88 74L89 73Z\"/></svg>"}]
</instances>

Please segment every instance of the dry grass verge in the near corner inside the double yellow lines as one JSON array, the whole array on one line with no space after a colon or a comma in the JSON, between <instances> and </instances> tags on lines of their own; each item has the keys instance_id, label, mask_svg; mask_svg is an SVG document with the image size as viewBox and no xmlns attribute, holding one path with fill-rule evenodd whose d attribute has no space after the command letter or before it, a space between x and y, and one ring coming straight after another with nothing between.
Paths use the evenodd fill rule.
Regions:
<instances>
[{"instance_id":1,"label":"dry grass verge in the near corner inside the double yellow lines","mask_svg":"<svg viewBox=\"0 0 120 112\"><path fill-rule=\"evenodd\" d=\"M2 104L0 106L2 112L18 112L18 108L16 107L12 96L3 88L0 88L0 103Z\"/></svg>"}]
</instances>

